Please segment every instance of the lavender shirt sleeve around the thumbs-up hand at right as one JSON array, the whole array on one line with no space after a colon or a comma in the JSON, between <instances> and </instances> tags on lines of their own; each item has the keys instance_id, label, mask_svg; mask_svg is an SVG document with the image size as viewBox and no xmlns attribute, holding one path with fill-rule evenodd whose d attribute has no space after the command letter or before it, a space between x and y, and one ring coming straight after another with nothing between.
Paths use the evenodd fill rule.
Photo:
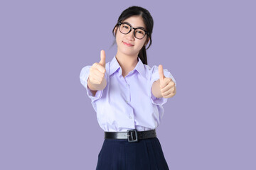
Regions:
<instances>
[{"instance_id":1,"label":"lavender shirt sleeve around the thumbs-up hand at right","mask_svg":"<svg viewBox=\"0 0 256 170\"><path fill-rule=\"evenodd\" d=\"M174 79L174 77L171 75L171 73L168 71L168 69L164 69L164 76L165 77L169 77L172 79L172 81L174 81L175 83L175 86L176 86L176 80ZM158 66L153 66L151 68L151 79L150 79L150 93L151 93L151 102L153 104L156 104L156 105L164 105L164 103L167 102L168 98L156 98L153 94L152 94L152 91L151 91L151 87L154 83L154 81L157 81L159 79L159 70L158 70Z\"/></svg>"}]
</instances>

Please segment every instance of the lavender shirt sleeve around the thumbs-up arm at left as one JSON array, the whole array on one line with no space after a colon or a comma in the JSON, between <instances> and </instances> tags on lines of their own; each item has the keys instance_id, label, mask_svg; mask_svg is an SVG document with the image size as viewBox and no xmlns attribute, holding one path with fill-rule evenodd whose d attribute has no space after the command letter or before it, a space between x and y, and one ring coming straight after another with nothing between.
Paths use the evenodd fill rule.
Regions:
<instances>
[{"instance_id":1,"label":"lavender shirt sleeve around the thumbs-up arm at left","mask_svg":"<svg viewBox=\"0 0 256 170\"><path fill-rule=\"evenodd\" d=\"M102 91L104 89L102 89L101 91L97 91L95 96L93 96L92 91L90 91L89 87L88 87L88 78L89 78L89 73L90 73L90 67L92 66L85 66L82 68L81 72L80 72L80 82L82 84L82 86L85 87L86 92L87 92L87 96L91 99L91 101L96 101L97 99L100 99L102 97ZM107 80L107 73L105 73L105 79Z\"/></svg>"}]
</instances>

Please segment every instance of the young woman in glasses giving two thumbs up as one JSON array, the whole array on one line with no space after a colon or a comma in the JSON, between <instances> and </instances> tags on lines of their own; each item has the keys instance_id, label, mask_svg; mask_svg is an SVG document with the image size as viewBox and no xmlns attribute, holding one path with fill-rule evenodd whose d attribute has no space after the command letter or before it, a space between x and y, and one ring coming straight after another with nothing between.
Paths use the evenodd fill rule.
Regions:
<instances>
[{"instance_id":1,"label":"young woman in glasses giving two thumbs up","mask_svg":"<svg viewBox=\"0 0 256 170\"><path fill-rule=\"evenodd\" d=\"M161 64L147 65L153 23L145 8L125 9L112 30L117 54L106 64L102 50L100 62L80 72L105 131L96 169L169 169L156 128L164 114L162 105L176 94L176 81Z\"/></svg>"}]
</instances>

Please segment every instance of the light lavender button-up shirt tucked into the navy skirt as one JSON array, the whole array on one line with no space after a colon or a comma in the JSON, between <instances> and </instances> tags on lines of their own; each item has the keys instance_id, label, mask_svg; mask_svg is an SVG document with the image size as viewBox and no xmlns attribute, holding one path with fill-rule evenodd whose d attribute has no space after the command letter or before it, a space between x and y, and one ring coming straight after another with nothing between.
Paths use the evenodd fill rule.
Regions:
<instances>
[{"instance_id":1,"label":"light lavender button-up shirt tucked into the navy skirt","mask_svg":"<svg viewBox=\"0 0 256 170\"><path fill-rule=\"evenodd\" d=\"M136 67L124 78L114 56L105 65L107 86L97 91L95 96L87 86L91 66L83 67L80 72L80 82L92 101L100 128L106 132L154 130L164 115L162 105L168 98L156 98L151 93L152 84L159 79L158 66L150 68L139 57L138 60ZM164 69L164 76L171 78L176 86L174 77L167 69Z\"/></svg>"}]
</instances>

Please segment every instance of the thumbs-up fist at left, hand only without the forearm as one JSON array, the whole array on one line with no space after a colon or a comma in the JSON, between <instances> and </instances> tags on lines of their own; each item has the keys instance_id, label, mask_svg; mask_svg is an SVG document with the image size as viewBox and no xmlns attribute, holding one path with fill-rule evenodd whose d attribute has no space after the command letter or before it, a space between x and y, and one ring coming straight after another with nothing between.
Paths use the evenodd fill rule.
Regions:
<instances>
[{"instance_id":1,"label":"thumbs-up fist at left, hand only without the forearm","mask_svg":"<svg viewBox=\"0 0 256 170\"><path fill-rule=\"evenodd\" d=\"M90 73L89 73L89 81L91 84L102 84L102 81L105 76L105 64L106 64L106 55L105 51L100 51L100 62L95 62L92 64L92 67L90 67Z\"/></svg>"}]
</instances>

